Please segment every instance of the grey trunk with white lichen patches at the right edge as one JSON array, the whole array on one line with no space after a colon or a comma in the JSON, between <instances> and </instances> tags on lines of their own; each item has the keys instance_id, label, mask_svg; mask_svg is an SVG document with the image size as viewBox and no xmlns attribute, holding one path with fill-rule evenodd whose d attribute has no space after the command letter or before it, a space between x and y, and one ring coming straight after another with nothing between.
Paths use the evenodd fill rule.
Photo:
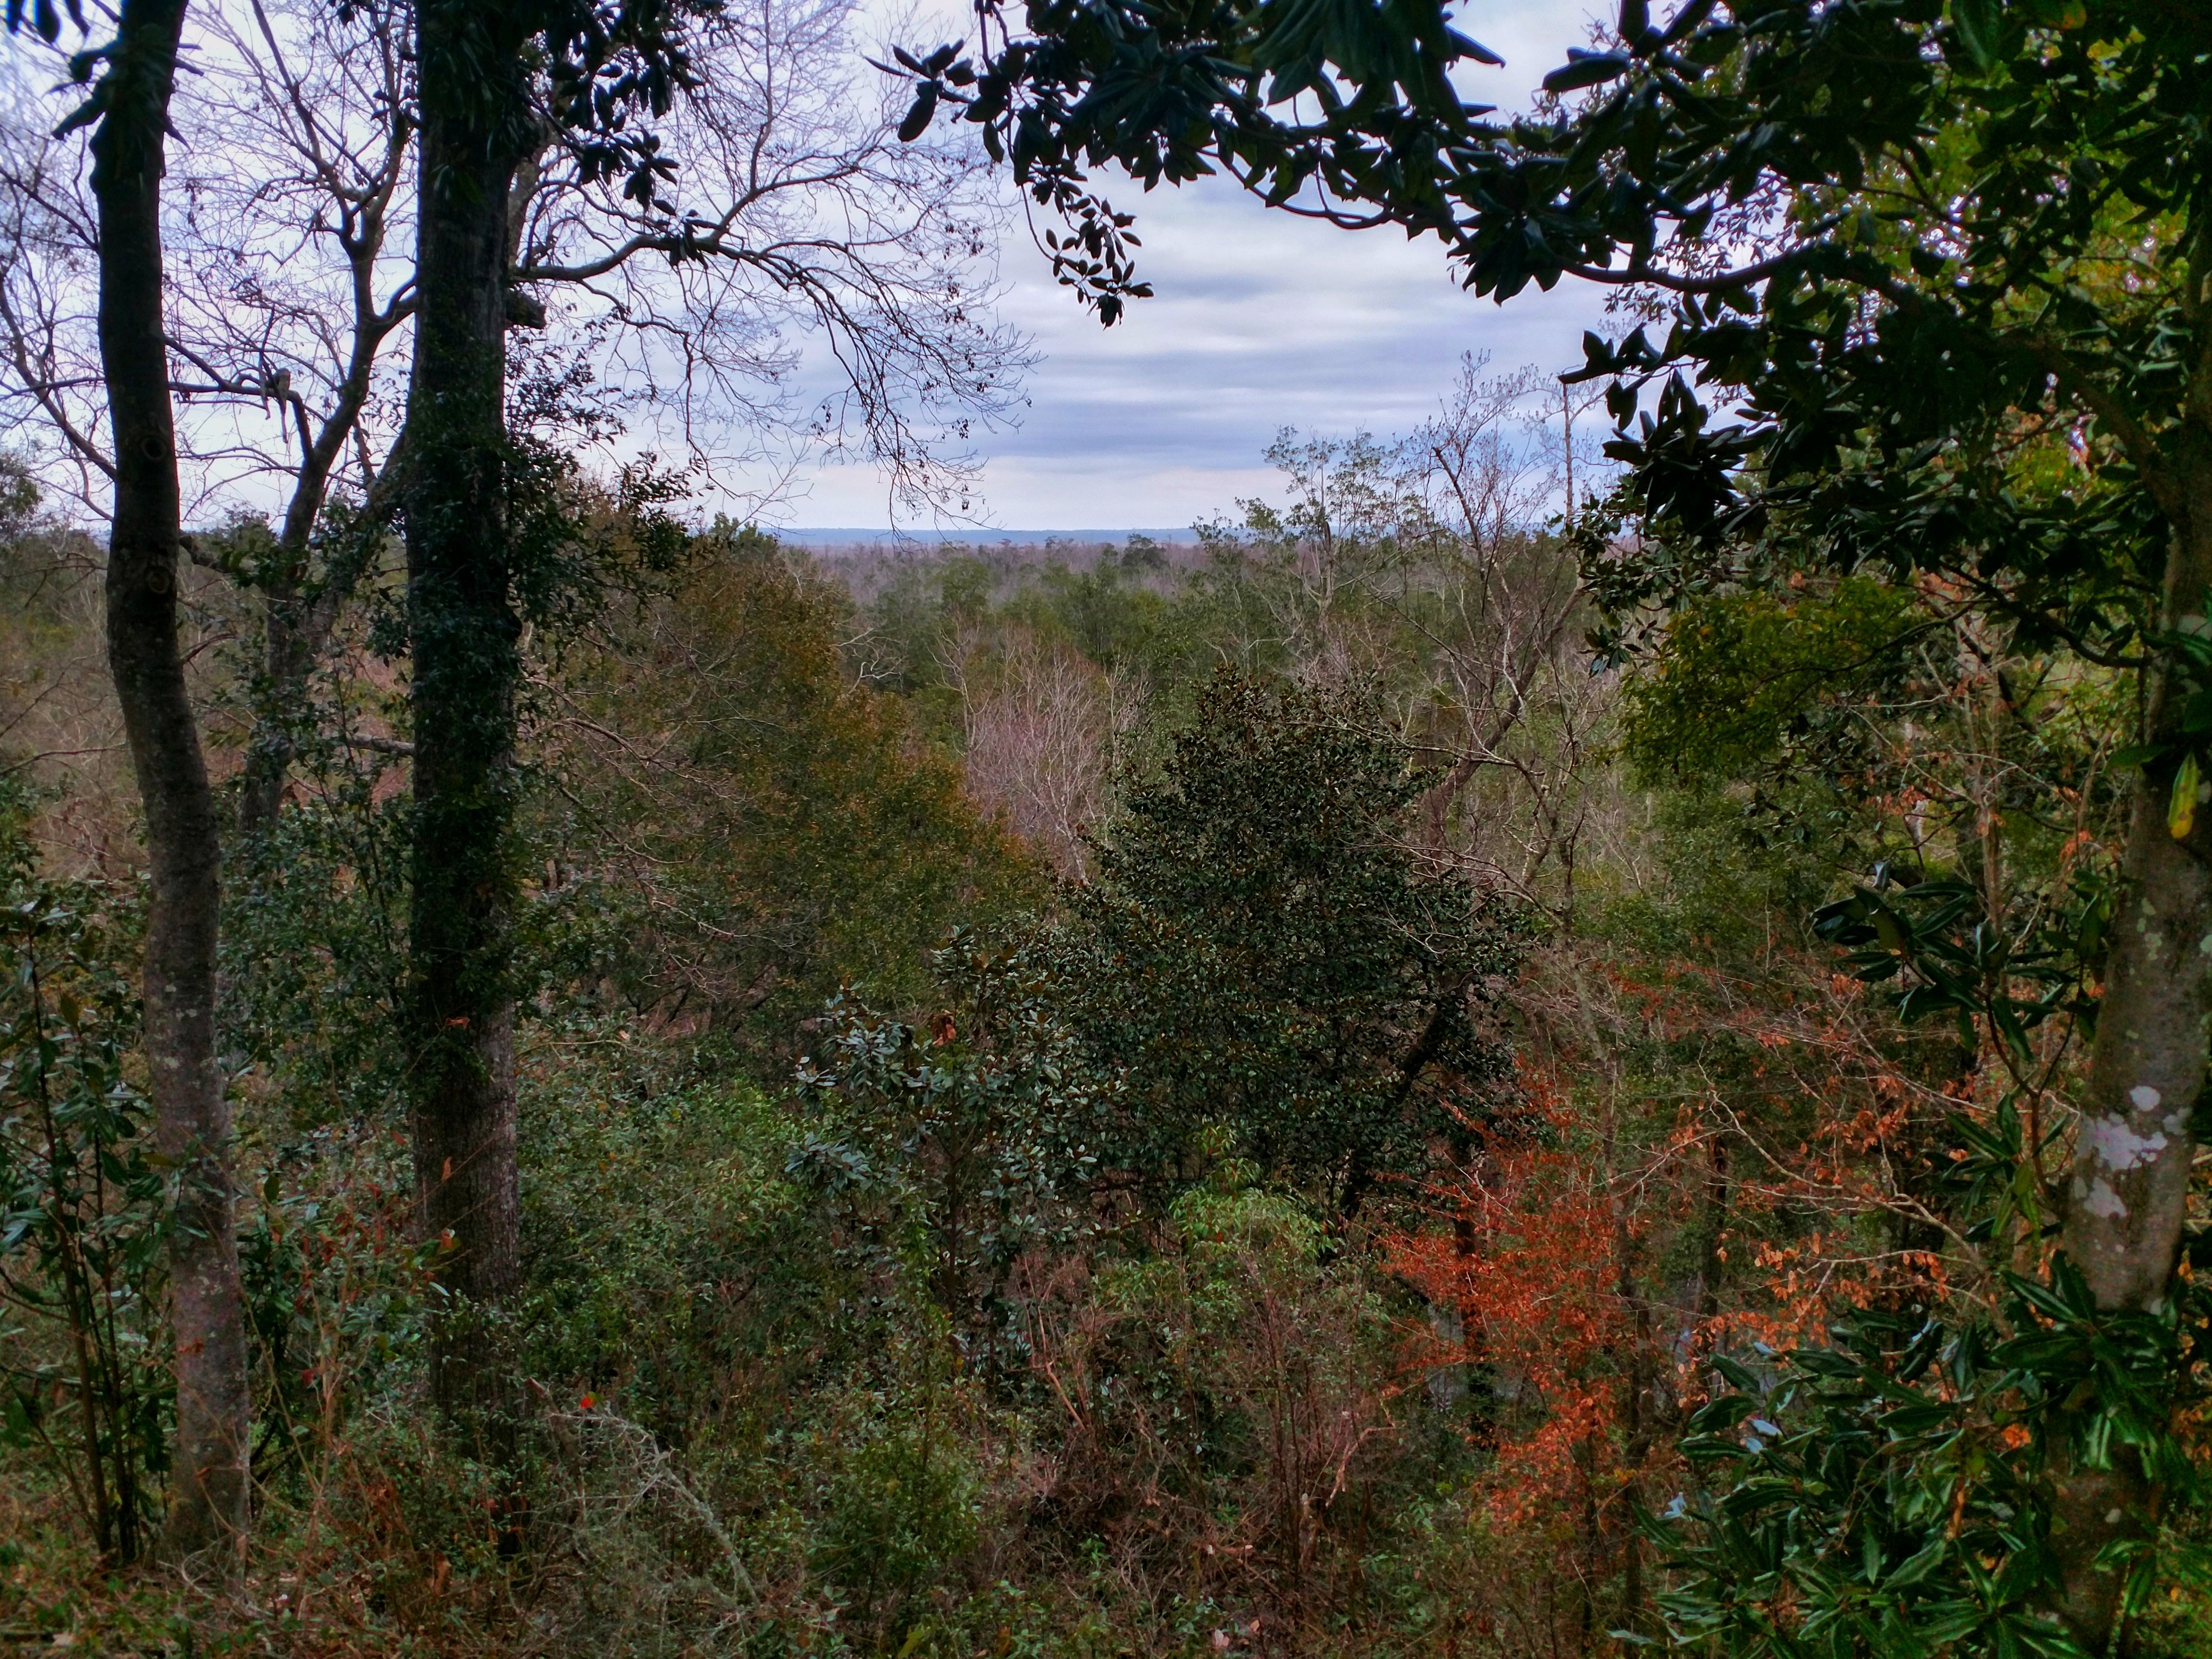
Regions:
<instances>
[{"instance_id":1,"label":"grey trunk with white lichen patches at the right edge","mask_svg":"<svg viewBox=\"0 0 2212 1659\"><path fill-rule=\"evenodd\" d=\"M2212 584L2212 465L2199 473L2168 564L2168 630L2185 615L2201 617ZM2179 703L2172 675L2152 686L2150 732L2168 752L2135 790L2062 1234L2108 1312L2157 1312L2172 1294L2205 1084L2212 812L2197 812L2185 838L2172 834L2168 805L2188 745ZM2121 1593L2121 1575L2099 1571L2097 1553L2148 1535L2157 1504L2128 1451L2117 1451L2110 1469L2070 1467L2059 1478L2059 1613L2090 1652L2110 1644Z\"/></svg>"}]
</instances>

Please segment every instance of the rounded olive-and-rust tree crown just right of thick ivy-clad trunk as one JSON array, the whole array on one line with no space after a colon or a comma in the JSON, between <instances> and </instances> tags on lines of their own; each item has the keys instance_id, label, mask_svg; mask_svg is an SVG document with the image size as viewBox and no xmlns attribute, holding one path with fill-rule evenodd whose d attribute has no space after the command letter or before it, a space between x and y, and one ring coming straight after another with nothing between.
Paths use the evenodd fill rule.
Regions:
<instances>
[{"instance_id":1,"label":"rounded olive-and-rust tree crown just right of thick ivy-clad trunk","mask_svg":"<svg viewBox=\"0 0 2212 1659\"><path fill-rule=\"evenodd\" d=\"M562 664L538 845L573 978L787 1057L841 984L909 1004L956 918L1035 894L902 703L845 675L841 619L768 538L723 529Z\"/></svg>"}]
</instances>

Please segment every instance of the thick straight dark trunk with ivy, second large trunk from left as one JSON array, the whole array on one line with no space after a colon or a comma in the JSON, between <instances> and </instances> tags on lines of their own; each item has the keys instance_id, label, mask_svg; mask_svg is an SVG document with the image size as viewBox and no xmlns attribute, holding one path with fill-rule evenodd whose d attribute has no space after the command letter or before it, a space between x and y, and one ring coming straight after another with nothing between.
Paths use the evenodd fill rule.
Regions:
<instances>
[{"instance_id":1,"label":"thick straight dark trunk with ivy, second large trunk from left","mask_svg":"<svg viewBox=\"0 0 2212 1659\"><path fill-rule=\"evenodd\" d=\"M520 626L507 546L507 199L529 148L515 7L418 9L422 86L407 613L414 653L416 1206L442 1239L434 1387L498 1413L515 1285L511 914Z\"/></svg>"}]
</instances>

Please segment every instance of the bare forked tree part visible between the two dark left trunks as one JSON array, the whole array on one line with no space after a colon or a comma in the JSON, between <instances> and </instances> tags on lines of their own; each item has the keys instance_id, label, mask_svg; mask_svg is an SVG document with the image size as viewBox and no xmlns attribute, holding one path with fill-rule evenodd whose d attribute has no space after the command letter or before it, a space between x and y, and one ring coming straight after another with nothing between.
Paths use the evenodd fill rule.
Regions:
<instances>
[{"instance_id":1,"label":"bare forked tree part visible between the two dark left trunks","mask_svg":"<svg viewBox=\"0 0 2212 1659\"><path fill-rule=\"evenodd\" d=\"M263 637L239 830L254 838L276 821L310 675L380 542L398 447L380 378L414 314L414 272L389 234L414 115L398 7L356 7L336 31L327 9L296 0L279 15L263 0L246 11L250 31L234 9L210 18L210 73L228 80L210 100L221 148L195 157L186 192L195 215L250 234L179 288L170 349L190 369L179 396L241 416L254 400L281 429L239 453L246 478L265 471L283 500L276 542L250 573ZM301 243L314 257L299 259ZM341 480L369 511L352 533L319 535Z\"/></svg>"}]
</instances>

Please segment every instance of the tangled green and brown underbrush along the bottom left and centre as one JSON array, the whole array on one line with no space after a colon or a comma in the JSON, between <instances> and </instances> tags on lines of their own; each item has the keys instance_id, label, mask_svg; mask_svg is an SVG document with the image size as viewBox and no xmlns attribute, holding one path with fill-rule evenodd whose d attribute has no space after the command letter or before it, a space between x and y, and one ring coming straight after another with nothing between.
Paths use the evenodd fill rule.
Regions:
<instances>
[{"instance_id":1,"label":"tangled green and brown underbrush along the bottom left and centre","mask_svg":"<svg viewBox=\"0 0 2212 1659\"><path fill-rule=\"evenodd\" d=\"M11 1453L0 1628L453 1659L1451 1646L1464 1425L1402 1374L1411 1307L1360 1241L1230 1166L1022 1256L984 1332L931 1298L918 1232L816 1179L803 1106L613 1024L544 1029L524 1075L513 1467L425 1402L400 1146L301 1135L246 1228L270 1429L241 1571L102 1575Z\"/></svg>"}]
</instances>

